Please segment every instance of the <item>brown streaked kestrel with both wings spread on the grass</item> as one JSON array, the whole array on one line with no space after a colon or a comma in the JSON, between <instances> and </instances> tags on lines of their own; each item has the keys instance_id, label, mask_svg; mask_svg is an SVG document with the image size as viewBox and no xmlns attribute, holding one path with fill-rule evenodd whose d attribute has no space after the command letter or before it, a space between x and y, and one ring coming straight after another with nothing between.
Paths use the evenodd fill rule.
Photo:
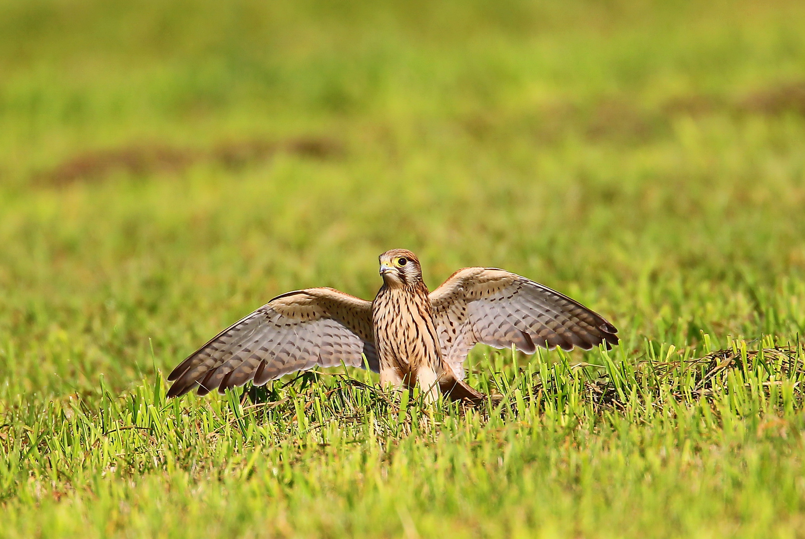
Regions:
<instances>
[{"instance_id":1,"label":"brown streaked kestrel with both wings spread on the grass","mask_svg":"<svg viewBox=\"0 0 805 539\"><path fill-rule=\"evenodd\" d=\"M411 251L391 249L379 262L383 284L374 301L328 287L280 294L177 365L167 397L345 364L378 372L386 389L419 385L429 403L442 393L478 404L486 396L464 381L464 360L477 343L526 354L537 346L618 344L617 328L601 315L518 274L469 267L429 291Z\"/></svg>"}]
</instances>

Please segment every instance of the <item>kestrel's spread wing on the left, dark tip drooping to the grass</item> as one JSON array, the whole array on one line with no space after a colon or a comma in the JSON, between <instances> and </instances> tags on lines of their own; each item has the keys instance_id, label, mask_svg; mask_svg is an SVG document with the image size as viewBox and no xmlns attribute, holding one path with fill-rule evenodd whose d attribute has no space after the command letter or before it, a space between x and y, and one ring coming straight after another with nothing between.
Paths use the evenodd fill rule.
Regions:
<instances>
[{"instance_id":1,"label":"kestrel's spread wing on the left, dark tip drooping to the grass","mask_svg":"<svg viewBox=\"0 0 805 539\"><path fill-rule=\"evenodd\" d=\"M254 380L263 385L288 372L344 364L378 372L372 304L332 288L308 288L272 299L182 361L170 375L168 397L198 387L224 393Z\"/></svg>"}]
</instances>

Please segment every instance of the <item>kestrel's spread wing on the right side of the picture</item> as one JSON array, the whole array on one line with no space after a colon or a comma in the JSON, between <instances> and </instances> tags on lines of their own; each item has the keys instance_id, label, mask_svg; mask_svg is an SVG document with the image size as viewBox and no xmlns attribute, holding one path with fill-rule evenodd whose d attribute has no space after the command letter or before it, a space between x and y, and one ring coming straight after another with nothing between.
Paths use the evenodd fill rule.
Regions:
<instances>
[{"instance_id":1,"label":"kestrel's spread wing on the right side of the picture","mask_svg":"<svg viewBox=\"0 0 805 539\"><path fill-rule=\"evenodd\" d=\"M617 329L581 303L497 268L458 270L430 298L442 356L459 379L476 343L533 354L537 345L588 350L618 340Z\"/></svg>"}]
</instances>

